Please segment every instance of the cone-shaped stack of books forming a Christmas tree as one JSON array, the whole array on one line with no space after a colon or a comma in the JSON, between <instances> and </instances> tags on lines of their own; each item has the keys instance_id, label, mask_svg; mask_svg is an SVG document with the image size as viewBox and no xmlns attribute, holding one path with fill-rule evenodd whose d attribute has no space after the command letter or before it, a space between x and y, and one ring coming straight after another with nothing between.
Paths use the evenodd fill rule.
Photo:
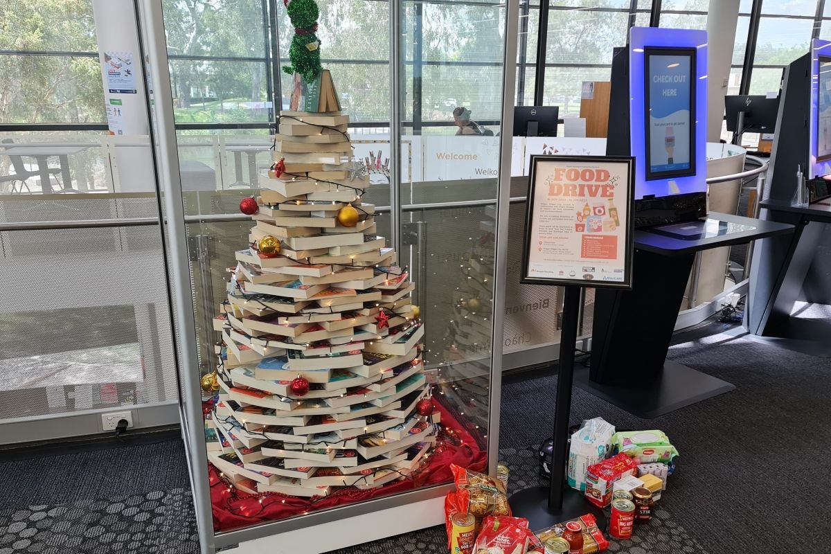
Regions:
<instances>
[{"instance_id":1,"label":"cone-shaped stack of books forming a Christmas tree","mask_svg":"<svg viewBox=\"0 0 831 554\"><path fill-rule=\"evenodd\" d=\"M347 122L283 112L283 164L260 179L252 246L236 252L214 319L208 456L243 491L379 487L418 468L435 443L414 285L376 234L374 206L361 203L369 182L349 162ZM344 208L356 222L339 217ZM277 255L258 249L267 237Z\"/></svg>"}]
</instances>

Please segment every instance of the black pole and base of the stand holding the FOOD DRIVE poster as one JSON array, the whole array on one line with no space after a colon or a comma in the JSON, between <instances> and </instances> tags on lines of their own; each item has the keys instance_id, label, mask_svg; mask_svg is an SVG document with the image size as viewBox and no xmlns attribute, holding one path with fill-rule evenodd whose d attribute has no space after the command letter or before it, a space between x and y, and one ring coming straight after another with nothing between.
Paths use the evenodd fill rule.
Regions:
<instances>
[{"instance_id":1,"label":"black pole and base of the stand holding the FOOD DRIVE poster","mask_svg":"<svg viewBox=\"0 0 831 554\"><path fill-rule=\"evenodd\" d=\"M563 301L563 327L560 335L560 359L557 374L557 404L554 408L554 444L551 483L548 487L530 487L514 493L509 503L516 517L526 517L534 531L551 527L554 523L593 514L597 527L606 528L602 509L586 500L583 493L568 487L566 478L566 443L568 417L571 413L574 351L577 348L580 288L566 285Z\"/></svg>"}]
</instances>

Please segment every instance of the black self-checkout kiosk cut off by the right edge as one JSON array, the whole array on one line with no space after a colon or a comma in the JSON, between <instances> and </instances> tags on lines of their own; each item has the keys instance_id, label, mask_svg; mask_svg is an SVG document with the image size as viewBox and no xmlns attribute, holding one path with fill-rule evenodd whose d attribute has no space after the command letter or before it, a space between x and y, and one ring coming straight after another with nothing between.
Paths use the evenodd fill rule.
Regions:
<instances>
[{"instance_id":1,"label":"black self-checkout kiosk cut off by the right edge","mask_svg":"<svg viewBox=\"0 0 831 554\"><path fill-rule=\"evenodd\" d=\"M831 42L785 70L774 149L760 218L790 223L794 233L767 238L754 250L748 331L795 351L831 355L831 326L792 317L798 300L831 303Z\"/></svg>"}]
</instances>

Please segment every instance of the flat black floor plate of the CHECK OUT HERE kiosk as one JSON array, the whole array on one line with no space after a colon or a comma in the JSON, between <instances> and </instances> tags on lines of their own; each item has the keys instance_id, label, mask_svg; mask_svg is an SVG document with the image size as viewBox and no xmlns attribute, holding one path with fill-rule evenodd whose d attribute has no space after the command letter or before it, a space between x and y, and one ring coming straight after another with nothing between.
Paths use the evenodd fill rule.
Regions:
<instances>
[{"instance_id":1,"label":"flat black floor plate of the CHECK OUT HERE kiosk","mask_svg":"<svg viewBox=\"0 0 831 554\"><path fill-rule=\"evenodd\" d=\"M735 389L727 381L669 360L664 362L658 377L642 386L601 385L589 380L588 371L588 367L576 365L574 384L643 419L656 418Z\"/></svg>"}]
</instances>

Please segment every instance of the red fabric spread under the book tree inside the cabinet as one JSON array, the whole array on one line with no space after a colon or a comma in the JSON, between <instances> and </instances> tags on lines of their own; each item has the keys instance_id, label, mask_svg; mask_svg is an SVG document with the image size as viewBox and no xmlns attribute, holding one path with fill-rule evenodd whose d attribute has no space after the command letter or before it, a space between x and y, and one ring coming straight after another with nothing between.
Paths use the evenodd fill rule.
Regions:
<instances>
[{"instance_id":1,"label":"red fabric spread under the book tree inside the cabinet","mask_svg":"<svg viewBox=\"0 0 831 554\"><path fill-rule=\"evenodd\" d=\"M231 531L238 527L293 517L312 512L312 510L325 510L389 494L403 493L413 488L450 483L453 480L453 475L450 473L451 463L486 473L487 456L484 450L479 448L474 437L443 405L435 402L435 407L441 413L441 425L445 431L444 438L440 436L440 444L437 444L433 454L425 463L422 463L420 468L411 473L409 478L386 483L378 488L361 490L347 487L338 489L325 497L313 498L298 498L280 493L253 495L231 487L219 477L219 470L209 465L214 531ZM450 430L453 432L450 433Z\"/></svg>"}]
</instances>

